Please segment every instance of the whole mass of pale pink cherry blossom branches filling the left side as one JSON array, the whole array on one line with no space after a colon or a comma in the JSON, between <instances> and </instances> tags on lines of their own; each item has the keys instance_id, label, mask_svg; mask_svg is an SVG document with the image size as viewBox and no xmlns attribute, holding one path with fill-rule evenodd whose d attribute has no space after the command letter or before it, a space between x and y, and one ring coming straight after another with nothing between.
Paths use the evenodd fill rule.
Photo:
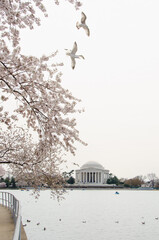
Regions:
<instances>
[{"instance_id":1,"label":"whole mass of pale pink cherry blossom branches filling the left side","mask_svg":"<svg viewBox=\"0 0 159 240\"><path fill-rule=\"evenodd\" d=\"M67 1L76 9L81 6L77 0ZM74 143L85 143L73 117L81 112L76 109L80 100L62 87L58 69L63 64L53 64L57 52L40 58L21 53L20 30L40 25L38 9L48 17L43 2L0 1L0 164L9 165L18 179L35 187L57 189L63 183L63 151L75 154ZM10 102L15 104L8 111ZM24 129L18 128L20 119L26 123ZM36 142L30 129L38 134Z\"/></svg>"}]
</instances>

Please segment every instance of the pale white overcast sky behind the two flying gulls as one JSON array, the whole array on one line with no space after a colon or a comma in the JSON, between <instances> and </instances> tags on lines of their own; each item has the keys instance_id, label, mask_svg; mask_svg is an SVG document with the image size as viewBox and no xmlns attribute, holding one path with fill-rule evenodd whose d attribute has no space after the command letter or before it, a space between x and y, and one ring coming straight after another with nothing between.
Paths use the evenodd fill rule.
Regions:
<instances>
[{"instance_id":1,"label":"pale white overcast sky behind the two flying gulls","mask_svg":"<svg viewBox=\"0 0 159 240\"><path fill-rule=\"evenodd\" d=\"M77 144L69 168L97 161L118 177L159 177L159 1L87 0L79 11L62 2L50 1L49 17L21 43L29 55L58 49L62 85L82 100L77 128L88 146ZM76 28L81 11L90 37ZM64 49L74 41L85 60L72 70Z\"/></svg>"}]
</instances>

